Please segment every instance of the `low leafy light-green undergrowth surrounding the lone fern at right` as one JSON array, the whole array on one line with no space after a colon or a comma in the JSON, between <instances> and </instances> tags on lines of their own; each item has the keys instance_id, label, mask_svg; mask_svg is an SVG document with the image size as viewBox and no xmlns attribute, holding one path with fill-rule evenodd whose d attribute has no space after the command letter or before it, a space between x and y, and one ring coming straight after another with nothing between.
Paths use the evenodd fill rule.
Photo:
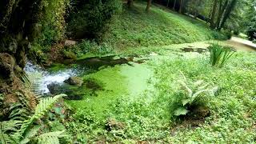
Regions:
<instances>
[{"instance_id":1,"label":"low leafy light-green undergrowth surrounding the lone fern at right","mask_svg":"<svg viewBox=\"0 0 256 144\"><path fill-rule=\"evenodd\" d=\"M256 139L256 62L254 53L234 54L221 69L212 67L209 55L170 54L151 60L154 78L138 97L120 97L103 117L81 109L67 123L78 142L203 142L251 143ZM194 120L179 120L172 111L174 94L182 79L203 80L218 86L206 99L210 114L194 126Z\"/></svg>"}]
</instances>

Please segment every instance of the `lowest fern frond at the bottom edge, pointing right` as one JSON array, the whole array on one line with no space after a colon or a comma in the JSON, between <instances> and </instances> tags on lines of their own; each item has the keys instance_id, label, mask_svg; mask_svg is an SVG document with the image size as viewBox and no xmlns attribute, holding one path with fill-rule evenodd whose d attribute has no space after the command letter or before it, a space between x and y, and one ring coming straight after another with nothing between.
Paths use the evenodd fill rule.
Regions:
<instances>
[{"instance_id":1,"label":"lowest fern frond at the bottom edge, pointing right","mask_svg":"<svg viewBox=\"0 0 256 144\"><path fill-rule=\"evenodd\" d=\"M38 138L38 144L59 144L58 138L65 137L64 130L41 134Z\"/></svg>"}]
</instances>

